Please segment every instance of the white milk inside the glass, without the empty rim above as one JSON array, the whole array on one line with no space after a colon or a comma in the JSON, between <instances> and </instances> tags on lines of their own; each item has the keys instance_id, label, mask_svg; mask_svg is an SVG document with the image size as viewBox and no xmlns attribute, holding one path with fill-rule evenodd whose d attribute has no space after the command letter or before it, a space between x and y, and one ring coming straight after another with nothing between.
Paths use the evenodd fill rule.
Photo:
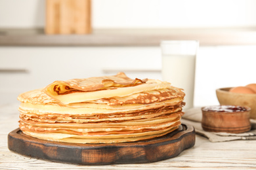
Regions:
<instances>
[{"instance_id":1,"label":"white milk inside the glass, without the empty rim above","mask_svg":"<svg viewBox=\"0 0 256 170\"><path fill-rule=\"evenodd\" d=\"M162 78L172 86L184 89L184 110L194 106L195 55L163 55Z\"/></svg>"}]
</instances>

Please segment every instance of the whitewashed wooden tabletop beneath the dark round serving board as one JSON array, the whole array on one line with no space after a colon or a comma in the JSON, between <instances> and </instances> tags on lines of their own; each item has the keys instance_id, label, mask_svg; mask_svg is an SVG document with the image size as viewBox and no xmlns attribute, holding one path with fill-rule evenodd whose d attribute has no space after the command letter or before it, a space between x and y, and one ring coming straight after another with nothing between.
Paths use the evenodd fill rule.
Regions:
<instances>
[{"instance_id":1,"label":"whitewashed wooden tabletop beneath the dark round serving board","mask_svg":"<svg viewBox=\"0 0 256 170\"><path fill-rule=\"evenodd\" d=\"M211 143L199 135L194 147L175 158L154 163L92 166L21 156L7 145L8 133L18 127L17 109L18 104L0 105L0 169L256 169L256 141Z\"/></svg>"}]
</instances>

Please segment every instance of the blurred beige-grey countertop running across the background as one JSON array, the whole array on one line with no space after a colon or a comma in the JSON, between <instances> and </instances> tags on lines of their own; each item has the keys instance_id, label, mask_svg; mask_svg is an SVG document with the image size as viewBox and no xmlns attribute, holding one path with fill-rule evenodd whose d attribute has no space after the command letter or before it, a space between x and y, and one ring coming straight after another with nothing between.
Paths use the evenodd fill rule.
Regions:
<instances>
[{"instance_id":1,"label":"blurred beige-grey countertop running across the background","mask_svg":"<svg viewBox=\"0 0 256 170\"><path fill-rule=\"evenodd\" d=\"M200 46L253 45L256 28L93 29L88 35L0 28L0 46L159 46L163 40L198 40Z\"/></svg>"}]
</instances>

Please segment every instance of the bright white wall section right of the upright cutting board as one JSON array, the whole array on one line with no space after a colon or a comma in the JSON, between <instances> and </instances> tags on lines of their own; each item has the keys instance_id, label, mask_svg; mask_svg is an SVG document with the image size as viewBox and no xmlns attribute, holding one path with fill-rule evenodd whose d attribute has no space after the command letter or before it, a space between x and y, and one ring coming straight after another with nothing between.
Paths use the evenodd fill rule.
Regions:
<instances>
[{"instance_id":1,"label":"bright white wall section right of the upright cutting board","mask_svg":"<svg viewBox=\"0 0 256 170\"><path fill-rule=\"evenodd\" d=\"M233 27L256 25L251 0L96 0L95 27Z\"/></svg>"}]
</instances>

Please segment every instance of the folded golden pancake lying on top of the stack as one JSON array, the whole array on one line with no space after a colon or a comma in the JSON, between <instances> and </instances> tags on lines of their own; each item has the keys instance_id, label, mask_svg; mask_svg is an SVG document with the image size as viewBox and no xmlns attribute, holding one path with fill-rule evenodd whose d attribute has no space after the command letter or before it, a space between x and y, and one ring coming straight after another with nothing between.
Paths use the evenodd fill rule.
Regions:
<instances>
[{"instance_id":1,"label":"folded golden pancake lying on top of the stack","mask_svg":"<svg viewBox=\"0 0 256 170\"><path fill-rule=\"evenodd\" d=\"M56 81L43 91L64 104L93 101L114 96L167 88L168 82L159 80L132 80L124 73L115 76L99 76L67 81ZM86 93L85 93L86 92Z\"/></svg>"}]
</instances>

